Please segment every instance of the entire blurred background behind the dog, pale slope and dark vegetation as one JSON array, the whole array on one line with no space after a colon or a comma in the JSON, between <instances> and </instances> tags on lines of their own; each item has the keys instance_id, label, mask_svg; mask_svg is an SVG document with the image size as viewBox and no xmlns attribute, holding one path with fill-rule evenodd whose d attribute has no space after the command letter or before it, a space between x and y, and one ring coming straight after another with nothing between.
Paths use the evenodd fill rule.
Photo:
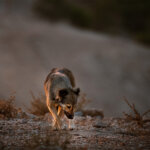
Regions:
<instances>
[{"instance_id":1,"label":"entire blurred background behind the dog, pale slope and dark vegetation","mask_svg":"<svg viewBox=\"0 0 150 150\"><path fill-rule=\"evenodd\" d=\"M76 85L105 116L150 108L149 0L0 0L0 98L32 91L54 67L69 68Z\"/></svg>"}]
</instances>

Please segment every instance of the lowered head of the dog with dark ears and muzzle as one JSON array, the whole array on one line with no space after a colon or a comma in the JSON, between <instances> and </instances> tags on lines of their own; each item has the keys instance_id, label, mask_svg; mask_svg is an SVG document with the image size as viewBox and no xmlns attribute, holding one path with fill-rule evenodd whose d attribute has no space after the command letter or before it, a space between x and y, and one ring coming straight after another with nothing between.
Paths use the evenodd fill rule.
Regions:
<instances>
[{"instance_id":1,"label":"lowered head of the dog with dark ears and muzzle","mask_svg":"<svg viewBox=\"0 0 150 150\"><path fill-rule=\"evenodd\" d=\"M60 101L64 114L68 119L73 119L75 107L77 105L77 98L79 96L80 89L61 89L58 91L57 98Z\"/></svg>"}]
</instances>

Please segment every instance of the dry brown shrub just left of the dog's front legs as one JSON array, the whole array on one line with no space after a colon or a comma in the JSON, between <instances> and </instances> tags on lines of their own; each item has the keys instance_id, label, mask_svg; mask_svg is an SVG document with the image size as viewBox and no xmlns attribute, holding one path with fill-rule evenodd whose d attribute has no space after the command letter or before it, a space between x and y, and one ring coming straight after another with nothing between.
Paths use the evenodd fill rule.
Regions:
<instances>
[{"instance_id":1,"label":"dry brown shrub just left of the dog's front legs","mask_svg":"<svg viewBox=\"0 0 150 150\"><path fill-rule=\"evenodd\" d=\"M35 97L33 92L31 92L31 96L32 96L31 108L28 109L28 111L31 114L37 116L44 116L46 113L49 112L46 106L46 98L44 95L40 94L39 96Z\"/></svg>"}]
</instances>

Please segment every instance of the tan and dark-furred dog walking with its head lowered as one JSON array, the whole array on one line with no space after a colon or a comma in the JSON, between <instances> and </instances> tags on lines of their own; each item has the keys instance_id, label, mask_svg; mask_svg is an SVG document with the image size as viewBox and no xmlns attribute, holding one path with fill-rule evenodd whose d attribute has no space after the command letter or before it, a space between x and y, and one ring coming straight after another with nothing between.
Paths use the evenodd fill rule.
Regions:
<instances>
[{"instance_id":1,"label":"tan and dark-furred dog walking with its head lowered","mask_svg":"<svg viewBox=\"0 0 150 150\"><path fill-rule=\"evenodd\" d=\"M44 89L46 104L54 119L53 126L56 129L63 129L61 117L65 114L68 119L73 119L80 92L79 88L75 89L72 72L66 68L52 69L44 82Z\"/></svg>"}]
</instances>

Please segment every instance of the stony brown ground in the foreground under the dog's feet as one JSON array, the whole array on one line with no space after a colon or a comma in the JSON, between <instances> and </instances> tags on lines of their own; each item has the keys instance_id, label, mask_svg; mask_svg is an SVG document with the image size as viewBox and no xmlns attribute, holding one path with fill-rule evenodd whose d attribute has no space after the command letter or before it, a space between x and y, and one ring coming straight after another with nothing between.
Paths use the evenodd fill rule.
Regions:
<instances>
[{"instance_id":1,"label":"stony brown ground in the foreground under the dog's feet","mask_svg":"<svg viewBox=\"0 0 150 150\"><path fill-rule=\"evenodd\" d=\"M0 120L0 149L150 149L150 124L136 128L121 118L74 118L74 130L52 130L49 114Z\"/></svg>"}]
</instances>

